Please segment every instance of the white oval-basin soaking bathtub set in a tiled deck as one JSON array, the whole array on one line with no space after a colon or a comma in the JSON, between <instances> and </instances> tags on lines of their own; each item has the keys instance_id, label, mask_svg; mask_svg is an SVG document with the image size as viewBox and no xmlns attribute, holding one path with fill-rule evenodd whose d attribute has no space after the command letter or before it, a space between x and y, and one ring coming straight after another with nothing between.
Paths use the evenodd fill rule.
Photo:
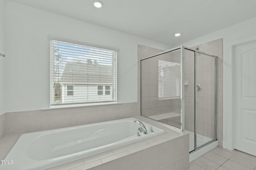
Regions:
<instances>
[{"instance_id":1,"label":"white oval-basin soaking bathtub set in a tiled deck","mask_svg":"<svg viewBox=\"0 0 256 170\"><path fill-rule=\"evenodd\" d=\"M86 158L134 142L165 133L144 123L148 134L136 132L140 125L135 118L119 119L21 135L4 160L0 170L44 170L67 162ZM150 132L150 126L154 132Z\"/></svg>"}]
</instances>

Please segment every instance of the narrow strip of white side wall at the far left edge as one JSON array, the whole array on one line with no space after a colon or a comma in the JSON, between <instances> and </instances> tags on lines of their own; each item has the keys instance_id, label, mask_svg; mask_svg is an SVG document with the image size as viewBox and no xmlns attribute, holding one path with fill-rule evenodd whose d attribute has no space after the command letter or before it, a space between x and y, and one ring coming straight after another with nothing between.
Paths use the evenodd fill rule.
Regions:
<instances>
[{"instance_id":1,"label":"narrow strip of white side wall at the far left edge","mask_svg":"<svg viewBox=\"0 0 256 170\"><path fill-rule=\"evenodd\" d=\"M0 0L0 53L5 54L5 0ZM0 115L4 113L4 65L6 59L0 57Z\"/></svg>"}]
</instances>

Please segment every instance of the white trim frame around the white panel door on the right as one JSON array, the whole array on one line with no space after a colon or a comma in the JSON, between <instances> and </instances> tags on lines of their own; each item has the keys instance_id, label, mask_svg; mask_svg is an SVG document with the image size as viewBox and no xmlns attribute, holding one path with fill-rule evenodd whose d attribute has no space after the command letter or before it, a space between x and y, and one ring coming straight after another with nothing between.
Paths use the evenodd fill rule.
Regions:
<instances>
[{"instance_id":1,"label":"white trim frame around the white panel door on the right","mask_svg":"<svg viewBox=\"0 0 256 170\"><path fill-rule=\"evenodd\" d=\"M256 42L256 35L236 39L227 43L227 56L223 58L223 147L234 150L234 48ZM225 141L226 139L226 141Z\"/></svg>"}]
</instances>

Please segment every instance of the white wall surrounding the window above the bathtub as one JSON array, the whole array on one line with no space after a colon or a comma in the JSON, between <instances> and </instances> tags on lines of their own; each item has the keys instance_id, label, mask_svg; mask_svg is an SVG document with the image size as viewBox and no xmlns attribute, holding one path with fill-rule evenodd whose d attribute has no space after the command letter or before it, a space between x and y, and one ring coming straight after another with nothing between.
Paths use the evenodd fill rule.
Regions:
<instances>
[{"instance_id":1,"label":"white wall surrounding the window above the bathtub","mask_svg":"<svg viewBox=\"0 0 256 170\"><path fill-rule=\"evenodd\" d=\"M118 102L137 102L138 44L168 45L6 1L6 112L49 108L48 35L119 48Z\"/></svg>"}]
</instances>

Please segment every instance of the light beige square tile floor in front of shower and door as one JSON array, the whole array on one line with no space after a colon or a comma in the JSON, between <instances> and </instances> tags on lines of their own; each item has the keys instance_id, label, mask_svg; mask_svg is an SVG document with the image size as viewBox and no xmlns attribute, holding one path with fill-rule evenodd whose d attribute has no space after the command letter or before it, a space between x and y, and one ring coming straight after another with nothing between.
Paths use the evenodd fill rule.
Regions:
<instances>
[{"instance_id":1,"label":"light beige square tile floor in front of shower and door","mask_svg":"<svg viewBox=\"0 0 256 170\"><path fill-rule=\"evenodd\" d=\"M256 170L256 156L216 147L190 162L188 170Z\"/></svg>"}]
</instances>

